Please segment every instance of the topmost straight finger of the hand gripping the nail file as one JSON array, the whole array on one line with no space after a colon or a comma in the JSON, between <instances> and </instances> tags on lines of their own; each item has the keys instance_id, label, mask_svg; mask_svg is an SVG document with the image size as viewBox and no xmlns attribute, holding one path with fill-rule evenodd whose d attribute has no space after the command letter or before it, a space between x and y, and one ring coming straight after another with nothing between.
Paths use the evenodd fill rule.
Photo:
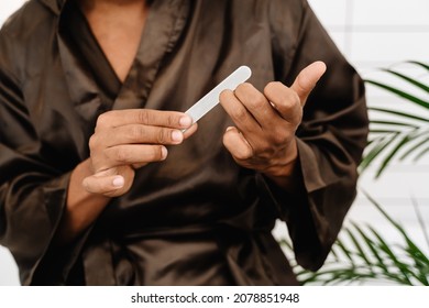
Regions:
<instances>
[{"instance_id":1,"label":"topmost straight finger of the hand gripping the nail file","mask_svg":"<svg viewBox=\"0 0 429 308\"><path fill-rule=\"evenodd\" d=\"M161 111L152 109L113 110L98 117L97 128L116 128L128 124L143 124L170 129L188 129L193 119L176 111Z\"/></svg>"}]
</instances>

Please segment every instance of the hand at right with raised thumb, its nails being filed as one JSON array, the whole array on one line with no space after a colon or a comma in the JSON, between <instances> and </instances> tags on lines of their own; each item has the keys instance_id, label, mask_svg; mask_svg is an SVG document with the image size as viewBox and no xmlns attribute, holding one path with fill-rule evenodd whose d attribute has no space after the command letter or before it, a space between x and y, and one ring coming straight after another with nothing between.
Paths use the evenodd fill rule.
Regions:
<instances>
[{"instance_id":1,"label":"hand at right with raised thumb, its nails being filed","mask_svg":"<svg viewBox=\"0 0 429 308\"><path fill-rule=\"evenodd\" d=\"M221 94L220 103L237 125L227 129L223 144L239 165L274 180L290 176L298 155L295 132L302 107L324 72L324 63L316 62L290 87L270 82L262 94L242 84Z\"/></svg>"}]
</instances>

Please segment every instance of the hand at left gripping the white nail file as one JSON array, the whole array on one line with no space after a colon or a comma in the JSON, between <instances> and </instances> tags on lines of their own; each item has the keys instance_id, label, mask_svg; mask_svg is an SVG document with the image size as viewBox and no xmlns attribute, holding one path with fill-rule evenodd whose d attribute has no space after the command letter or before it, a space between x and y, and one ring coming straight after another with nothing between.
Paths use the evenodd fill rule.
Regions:
<instances>
[{"instance_id":1,"label":"hand at left gripping the white nail file","mask_svg":"<svg viewBox=\"0 0 429 308\"><path fill-rule=\"evenodd\" d=\"M125 194L134 169L164 161L165 145L180 144L196 131L191 124L189 116L175 111L134 109L101 114L89 140L91 175L84 179L85 189L107 197Z\"/></svg>"}]
</instances>

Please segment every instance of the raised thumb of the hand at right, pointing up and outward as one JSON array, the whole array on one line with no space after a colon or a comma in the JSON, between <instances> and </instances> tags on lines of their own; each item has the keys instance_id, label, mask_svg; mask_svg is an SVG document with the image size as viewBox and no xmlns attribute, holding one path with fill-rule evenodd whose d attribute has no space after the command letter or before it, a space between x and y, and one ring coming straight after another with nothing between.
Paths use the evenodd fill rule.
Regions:
<instances>
[{"instance_id":1,"label":"raised thumb of the hand at right, pointing up and outward","mask_svg":"<svg viewBox=\"0 0 429 308\"><path fill-rule=\"evenodd\" d=\"M302 106L326 70L326 64L318 61L304 68L296 77L290 88L298 95Z\"/></svg>"}]
</instances>

